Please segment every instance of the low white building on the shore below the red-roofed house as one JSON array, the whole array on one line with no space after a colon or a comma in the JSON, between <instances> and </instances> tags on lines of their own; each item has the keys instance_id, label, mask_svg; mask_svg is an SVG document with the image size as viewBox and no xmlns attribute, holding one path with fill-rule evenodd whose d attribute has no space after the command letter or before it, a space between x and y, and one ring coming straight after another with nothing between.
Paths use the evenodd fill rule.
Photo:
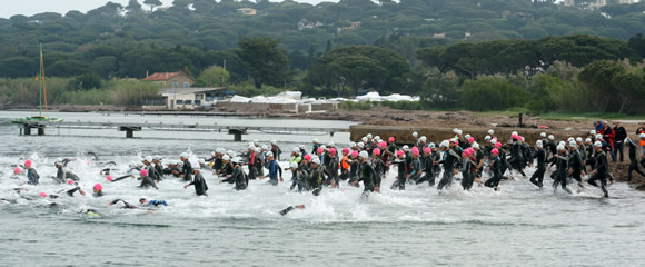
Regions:
<instances>
[{"instance_id":1,"label":"low white building on the shore below the red-roofed house","mask_svg":"<svg viewBox=\"0 0 645 267\"><path fill-rule=\"evenodd\" d=\"M210 107L215 101L225 100L232 97L235 92L227 91L226 87L215 88L163 88L160 90L161 98L155 101L143 101L143 108L151 106L160 107L165 105L166 109L196 109ZM155 102L155 105L152 105ZM147 105L148 103L148 105ZM148 107L147 107L148 106Z\"/></svg>"}]
</instances>

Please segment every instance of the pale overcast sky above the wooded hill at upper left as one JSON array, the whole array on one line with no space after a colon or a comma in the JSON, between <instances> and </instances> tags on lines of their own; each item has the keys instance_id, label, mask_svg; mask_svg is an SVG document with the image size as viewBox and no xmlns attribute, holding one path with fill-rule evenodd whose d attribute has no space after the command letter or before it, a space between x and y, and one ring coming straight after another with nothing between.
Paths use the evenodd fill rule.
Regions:
<instances>
[{"instance_id":1,"label":"pale overcast sky above the wooded hill at upper left","mask_svg":"<svg viewBox=\"0 0 645 267\"><path fill-rule=\"evenodd\" d=\"M128 4L128 0L111 0L123 6ZM274 1L274 0L271 0ZM277 0L276 0L277 1ZM297 0L298 2L317 3L321 0ZM337 0L327 0L337 2ZM0 18L9 18L14 14L32 16L42 12L57 12L66 14L70 10L78 10L87 12L106 4L108 0L0 0L2 8L0 9ZM165 6L170 6L172 0L161 0ZM143 3L143 0L139 0Z\"/></svg>"}]
</instances>

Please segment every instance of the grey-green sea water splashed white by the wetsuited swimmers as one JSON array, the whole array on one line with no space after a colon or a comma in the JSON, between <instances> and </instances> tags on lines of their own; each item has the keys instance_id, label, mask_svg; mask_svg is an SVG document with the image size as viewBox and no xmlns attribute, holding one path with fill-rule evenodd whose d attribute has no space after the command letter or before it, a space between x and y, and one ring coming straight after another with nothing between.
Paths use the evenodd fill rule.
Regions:
<instances>
[{"instance_id":1,"label":"grey-green sea water splashed white by the wetsuited swimmers","mask_svg":"<svg viewBox=\"0 0 645 267\"><path fill-rule=\"evenodd\" d=\"M52 161L77 157L69 165L90 190L102 182L103 198L61 198L60 211L39 206L48 200L0 205L1 266L643 266L645 263L645 194L625 184L609 188L611 199L587 189L566 196L538 190L526 179L503 181L502 191L475 187L463 192L458 184L443 194L435 188L408 186L391 191L394 171L384 181L383 194L360 200L361 189L341 187L321 196L289 192L287 182L277 187L251 181L246 191L217 184L206 175L208 197L196 197L182 182L162 181L160 190L141 190L126 179L106 185L99 162L82 157L96 151L101 160L115 160L123 172L138 155L176 158L183 151L191 159L216 147L241 150L228 135L69 131L46 137L19 137L9 121L28 113L0 112L0 197L17 198L20 186L9 179L11 164L31 157L41 185L24 192L56 194L68 186L54 185ZM307 120L248 120L231 118L176 118L58 113L51 117L92 121L215 122L284 126L348 126L351 122ZM49 134L49 132L48 132ZM97 137L100 136L100 137ZM312 137L245 136L277 139L287 151L296 144L309 146ZM328 136L318 136L328 141ZM348 135L336 135L348 142ZM533 171L529 171L533 172ZM289 179L290 175L285 175ZM548 180L548 178L547 178ZM548 180L550 181L550 180ZM165 199L170 206L155 212L106 207L115 198L136 202L141 196ZM282 217L280 209L304 204L307 209ZM78 212L96 208L103 216Z\"/></svg>"}]
</instances>

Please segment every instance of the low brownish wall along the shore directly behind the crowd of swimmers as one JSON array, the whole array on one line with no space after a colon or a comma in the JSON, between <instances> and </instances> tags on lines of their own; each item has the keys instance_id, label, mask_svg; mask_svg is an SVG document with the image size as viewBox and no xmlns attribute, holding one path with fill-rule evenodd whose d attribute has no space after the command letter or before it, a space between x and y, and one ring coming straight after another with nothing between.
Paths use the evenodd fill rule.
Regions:
<instances>
[{"instance_id":1,"label":"low brownish wall along the shore directly behind the crowd of swimmers","mask_svg":"<svg viewBox=\"0 0 645 267\"><path fill-rule=\"evenodd\" d=\"M453 138L454 128L438 128L438 127L400 127L400 126L366 126L356 125L349 128L351 134L350 139L353 141L360 141L360 138L371 134L373 136L380 136L381 139L386 140L388 137L394 137L396 142L399 144L413 144L413 132L418 132L419 137L426 136L428 142L435 142L438 145L441 140ZM526 141L530 145L535 145L537 140L540 139L539 134L546 132L547 135L554 135L556 140L566 140L568 137L583 137L586 138L589 134L588 131L565 131L557 130L553 131L549 129L533 129L533 128L493 128L495 136L498 137L503 142L510 139L510 134L517 131L523 136ZM469 134L479 144L484 141L484 137L488 135L488 129L482 128L464 128L462 129L464 135Z\"/></svg>"}]
</instances>

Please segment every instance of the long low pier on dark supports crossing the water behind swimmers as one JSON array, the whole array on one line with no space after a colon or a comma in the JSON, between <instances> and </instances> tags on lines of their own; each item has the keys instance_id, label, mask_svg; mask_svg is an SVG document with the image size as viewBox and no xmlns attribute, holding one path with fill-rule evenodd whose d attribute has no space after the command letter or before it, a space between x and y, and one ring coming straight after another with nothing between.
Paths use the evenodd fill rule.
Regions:
<instances>
[{"instance_id":1,"label":"long low pier on dark supports crossing the water behind swimmers","mask_svg":"<svg viewBox=\"0 0 645 267\"><path fill-rule=\"evenodd\" d=\"M271 135L319 135L336 132L349 132L349 128L322 128L322 127L278 127L278 126L227 126L202 123L132 123L132 122L90 122L90 121L24 121L16 123L20 128L20 135L29 136L32 129L38 129L39 136L44 136L46 128L57 129L83 129L83 130L118 130L125 131L126 138L133 138L135 131L189 131L189 132L227 132L234 136L235 141L241 141L242 135L250 132Z\"/></svg>"}]
</instances>

